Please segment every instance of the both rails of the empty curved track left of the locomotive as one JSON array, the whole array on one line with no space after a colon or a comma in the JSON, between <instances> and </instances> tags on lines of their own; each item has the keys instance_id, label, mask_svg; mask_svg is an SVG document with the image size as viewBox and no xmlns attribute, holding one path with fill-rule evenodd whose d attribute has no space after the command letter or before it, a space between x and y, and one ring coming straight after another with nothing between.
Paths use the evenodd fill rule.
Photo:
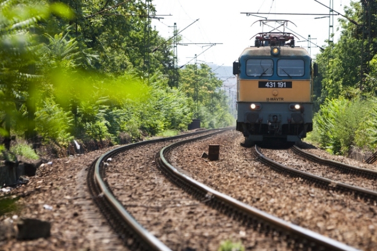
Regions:
<instances>
[{"instance_id":1,"label":"both rails of the empty curved track left of the locomotive","mask_svg":"<svg viewBox=\"0 0 377 251\"><path fill-rule=\"evenodd\" d=\"M211 189L210 187L192 179L190 175L183 174L182 172L184 171L173 167L165 158L170 151L182 144L187 144L190 141L198 141L213 136L214 134L209 136L205 135L195 139L180 141L164 147L159 155L156 156L155 161L158 162L161 171L172 183L181 187L182 190L192 194L195 198L197 198L199 204L211 206L224 214L238 219L238 221L241 222L241 224L244 224L247 228L252 227L254 230L259 230L260 232L267 233L270 236L279 236L278 238L287 240L287 242L291 243L291 248L293 249L309 248L311 250L356 250L341 242L281 220L245 203L242 203L230 196ZM168 139L163 139L161 141L166 140ZM159 140L155 142L159 142ZM91 190L93 198L95 198L101 210L107 215L106 217L108 218L108 221L131 249L169 250L167 246L165 246L152 234L147 232L134 219L134 217L127 210L125 210L124 206L119 202L119 200L114 197L113 191L109 189L109 177L106 177L106 168L104 167L109 164L109 158L114 159L114 157L120 154L122 151L139 147L144 144L150 143L133 144L131 146L122 147L100 157L96 164L90 169L88 184L90 184L92 187ZM95 178L92 179L90 177ZM192 204L193 202L190 203L191 206L195 205ZM141 205L136 206L141 207ZM190 206L190 204L188 206ZM130 207L130 205L128 205L128 207ZM148 207L150 208L150 206ZM162 207L154 206L154 208L159 209Z\"/></svg>"}]
</instances>

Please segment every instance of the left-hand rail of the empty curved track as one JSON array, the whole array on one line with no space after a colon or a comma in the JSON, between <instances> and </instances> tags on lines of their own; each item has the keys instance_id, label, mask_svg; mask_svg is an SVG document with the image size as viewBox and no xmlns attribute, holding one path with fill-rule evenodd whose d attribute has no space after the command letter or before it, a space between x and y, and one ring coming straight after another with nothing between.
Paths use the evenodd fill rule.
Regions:
<instances>
[{"instance_id":1,"label":"left-hand rail of the empty curved track","mask_svg":"<svg viewBox=\"0 0 377 251\"><path fill-rule=\"evenodd\" d=\"M94 179L96 184L98 185L101 196L103 196L110 204L111 206L119 213L119 216L130 226L142 239L145 241L143 244L147 244L149 246L148 249L158 250L158 251L171 251L169 247L167 247L164 243L162 243L159 239L157 239L154 235L149 233L142 225L140 225L133 217L132 215L123 207L123 205L115 198L115 196L112 194L111 190L108 188L107 183L104 181L104 179L101 176L101 170L103 167L103 164L107 162L108 158L117 155L120 152L123 152L127 149L131 149L134 147L151 144L151 143L157 143L162 141L169 141L179 138L185 138L193 135L200 135L203 133L211 132L211 131L217 131L219 129L214 130L208 130L208 131L201 131L191 134L185 134L185 135L179 135L179 136L173 136L168 138L161 138L161 139L155 139L150 141L142 141L126 146L122 146L116 149L113 149L105 154L103 154L96 162L95 164L95 170L94 170ZM225 129L220 129L224 131ZM203 137L203 136L202 136Z\"/></svg>"}]
</instances>

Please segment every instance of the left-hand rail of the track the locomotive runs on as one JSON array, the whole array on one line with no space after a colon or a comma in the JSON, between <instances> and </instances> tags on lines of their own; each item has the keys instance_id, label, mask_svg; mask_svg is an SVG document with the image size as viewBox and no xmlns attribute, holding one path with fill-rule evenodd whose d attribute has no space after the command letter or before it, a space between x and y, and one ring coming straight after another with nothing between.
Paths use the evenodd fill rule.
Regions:
<instances>
[{"instance_id":1,"label":"left-hand rail of the track the locomotive runs on","mask_svg":"<svg viewBox=\"0 0 377 251\"><path fill-rule=\"evenodd\" d=\"M280 163L277 163L277 162L265 157L262 153L259 152L258 147L256 145L255 145L255 151L259 155L260 161L262 163L264 163L267 166L270 166L272 168L275 168L278 171L284 171L284 172L289 173L291 175L296 175L296 176L299 176L301 178L307 179L309 181L314 181L314 182L320 183L323 186L332 187L332 188L339 189L339 190L346 190L346 191L354 192L354 193L359 194L360 196L364 196L366 198L372 198L373 200L377 201L377 192L375 192L375 191L364 189L364 188L361 188L361 187L351 186L351 185L348 185L348 184L345 184L345 183L333 181L333 180L330 180L330 179L327 179L327 178L324 178L324 177L321 177L321 176L317 176L317 175L307 173L307 172L304 172L304 171L301 171L301 170L297 170L297 169L294 169L294 168L291 168L291 167L287 167L285 165L282 165Z\"/></svg>"}]
</instances>

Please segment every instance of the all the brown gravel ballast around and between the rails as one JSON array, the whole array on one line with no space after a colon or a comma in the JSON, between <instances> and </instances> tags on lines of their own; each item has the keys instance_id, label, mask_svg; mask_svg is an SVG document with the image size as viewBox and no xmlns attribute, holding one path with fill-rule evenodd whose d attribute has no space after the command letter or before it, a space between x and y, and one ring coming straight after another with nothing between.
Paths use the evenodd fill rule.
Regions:
<instances>
[{"instance_id":1,"label":"all the brown gravel ballast around and between the rails","mask_svg":"<svg viewBox=\"0 0 377 251\"><path fill-rule=\"evenodd\" d=\"M356 248L377 249L374 203L276 173L255 160L252 149L241 146L243 140L232 131L181 146L169 159L186 175L260 210ZM201 158L210 144L220 145L218 161ZM4 193L20 199L16 212L0 217L1 226L11 224L17 229L17 217L35 218L51 223L51 236L21 241L11 231L0 239L0 250L127 250L86 191L86 169L110 149L51 160L52 165L40 167L28 184ZM156 169L154 148L133 151L119 156L127 165L116 158L109 165L108 182L140 222L174 250L217 250L225 239L241 240L250 250L289 249L277 237L247 229L167 182ZM306 151L328 155L315 148Z\"/></svg>"}]
</instances>

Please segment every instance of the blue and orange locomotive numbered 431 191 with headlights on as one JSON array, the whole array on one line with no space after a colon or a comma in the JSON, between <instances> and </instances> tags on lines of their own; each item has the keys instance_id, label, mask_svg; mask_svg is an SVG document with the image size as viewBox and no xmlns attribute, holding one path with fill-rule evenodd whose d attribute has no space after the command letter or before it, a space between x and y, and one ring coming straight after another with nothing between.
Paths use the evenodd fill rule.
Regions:
<instances>
[{"instance_id":1,"label":"blue and orange locomotive numbered 431 191 with headlights on","mask_svg":"<svg viewBox=\"0 0 377 251\"><path fill-rule=\"evenodd\" d=\"M295 144L313 129L313 77L309 53L285 32L258 33L255 45L233 63L237 126L245 144Z\"/></svg>"}]
</instances>

